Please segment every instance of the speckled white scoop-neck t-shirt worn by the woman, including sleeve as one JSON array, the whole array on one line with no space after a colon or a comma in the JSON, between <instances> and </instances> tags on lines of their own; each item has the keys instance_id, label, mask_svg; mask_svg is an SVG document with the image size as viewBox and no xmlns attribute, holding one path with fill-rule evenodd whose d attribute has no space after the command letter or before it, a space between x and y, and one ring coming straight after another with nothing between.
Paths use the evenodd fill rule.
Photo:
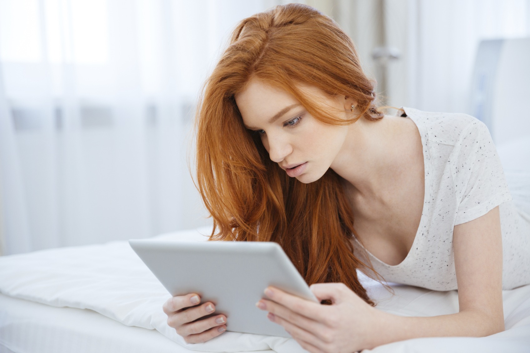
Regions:
<instances>
[{"instance_id":1,"label":"speckled white scoop-neck t-shirt worn by the woman, including sleeve","mask_svg":"<svg viewBox=\"0 0 530 353\"><path fill-rule=\"evenodd\" d=\"M529 284L530 224L514 206L488 128L463 113L402 109L421 135L425 164L423 210L407 257L391 266L366 251L374 269L388 282L433 290L457 289L454 226L499 206L502 288ZM363 245L357 239L352 243L356 256L366 261L364 251L359 251ZM369 270L365 272L373 277Z\"/></svg>"}]
</instances>

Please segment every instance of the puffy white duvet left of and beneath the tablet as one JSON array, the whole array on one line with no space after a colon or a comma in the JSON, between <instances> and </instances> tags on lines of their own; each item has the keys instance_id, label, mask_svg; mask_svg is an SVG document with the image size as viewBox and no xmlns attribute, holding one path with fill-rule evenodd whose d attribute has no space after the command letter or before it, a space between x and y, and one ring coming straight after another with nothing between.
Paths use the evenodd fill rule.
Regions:
<instances>
[{"instance_id":1,"label":"puffy white duvet left of and beneath the tablet","mask_svg":"<svg viewBox=\"0 0 530 353\"><path fill-rule=\"evenodd\" d=\"M207 237L201 232L206 234L202 229L158 238L205 241ZM0 292L51 306L90 309L128 326L156 329L193 350L302 351L293 339L238 332L225 332L204 343L184 342L167 325L167 316L162 311L169 293L124 241L0 258Z\"/></svg>"}]
</instances>

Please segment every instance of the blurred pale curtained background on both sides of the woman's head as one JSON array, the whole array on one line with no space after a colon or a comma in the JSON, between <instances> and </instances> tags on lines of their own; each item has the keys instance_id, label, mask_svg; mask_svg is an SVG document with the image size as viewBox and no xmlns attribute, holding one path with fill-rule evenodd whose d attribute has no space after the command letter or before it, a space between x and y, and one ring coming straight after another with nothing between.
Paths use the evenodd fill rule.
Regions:
<instances>
[{"instance_id":1,"label":"blurred pale curtained background on both sides of the woman's head","mask_svg":"<svg viewBox=\"0 0 530 353\"><path fill-rule=\"evenodd\" d=\"M3 253L211 223L187 163L197 94L236 23L285 3L0 0ZM395 107L476 116L480 43L530 37L529 0L299 3L341 25Z\"/></svg>"}]
</instances>

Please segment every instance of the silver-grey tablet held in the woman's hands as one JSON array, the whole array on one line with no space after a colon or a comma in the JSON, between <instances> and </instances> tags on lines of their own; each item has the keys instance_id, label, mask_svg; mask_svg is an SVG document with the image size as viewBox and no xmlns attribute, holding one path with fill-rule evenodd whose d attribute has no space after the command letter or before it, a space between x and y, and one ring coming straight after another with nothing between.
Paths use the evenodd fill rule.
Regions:
<instances>
[{"instance_id":1,"label":"silver-grey tablet held in the woman's hands","mask_svg":"<svg viewBox=\"0 0 530 353\"><path fill-rule=\"evenodd\" d=\"M227 317L226 330L290 337L255 304L275 286L319 303L275 242L129 240L130 246L172 295L197 293ZM213 315L213 314L212 314Z\"/></svg>"}]
</instances>

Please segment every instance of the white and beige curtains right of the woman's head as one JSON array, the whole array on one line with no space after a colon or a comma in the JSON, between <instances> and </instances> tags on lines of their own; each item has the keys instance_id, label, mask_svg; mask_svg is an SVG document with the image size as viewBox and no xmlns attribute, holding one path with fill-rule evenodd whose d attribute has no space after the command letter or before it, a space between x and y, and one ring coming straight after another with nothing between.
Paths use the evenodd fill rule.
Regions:
<instances>
[{"instance_id":1,"label":"white and beige curtains right of the woman's head","mask_svg":"<svg viewBox=\"0 0 530 353\"><path fill-rule=\"evenodd\" d=\"M388 59L378 95L394 107L472 114L471 80L484 39L530 37L530 0L334 0L365 72L382 83L374 48ZM383 13L381 13L383 12ZM387 59L383 57L383 59Z\"/></svg>"}]
</instances>

